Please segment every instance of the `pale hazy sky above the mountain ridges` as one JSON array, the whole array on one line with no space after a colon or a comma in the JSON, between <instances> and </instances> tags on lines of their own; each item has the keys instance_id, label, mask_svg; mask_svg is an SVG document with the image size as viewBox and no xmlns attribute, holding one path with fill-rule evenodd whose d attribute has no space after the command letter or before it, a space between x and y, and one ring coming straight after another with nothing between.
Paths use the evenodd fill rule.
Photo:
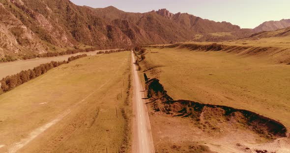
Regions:
<instances>
[{"instance_id":1,"label":"pale hazy sky above the mountain ridges","mask_svg":"<svg viewBox=\"0 0 290 153\"><path fill-rule=\"evenodd\" d=\"M94 8L115 6L126 12L167 8L213 21L254 28L264 21L290 19L290 0L71 0Z\"/></svg>"}]
</instances>

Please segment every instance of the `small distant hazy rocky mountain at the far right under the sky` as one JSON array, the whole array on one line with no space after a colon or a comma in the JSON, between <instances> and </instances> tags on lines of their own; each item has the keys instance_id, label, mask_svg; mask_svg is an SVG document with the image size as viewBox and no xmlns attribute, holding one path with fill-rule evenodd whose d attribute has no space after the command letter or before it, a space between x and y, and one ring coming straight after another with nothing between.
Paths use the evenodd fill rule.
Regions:
<instances>
[{"instance_id":1,"label":"small distant hazy rocky mountain at the far right under the sky","mask_svg":"<svg viewBox=\"0 0 290 153\"><path fill-rule=\"evenodd\" d=\"M254 28L254 32L274 31L290 26L290 19L282 19L280 21L266 21Z\"/></svg>"}]
</instances>

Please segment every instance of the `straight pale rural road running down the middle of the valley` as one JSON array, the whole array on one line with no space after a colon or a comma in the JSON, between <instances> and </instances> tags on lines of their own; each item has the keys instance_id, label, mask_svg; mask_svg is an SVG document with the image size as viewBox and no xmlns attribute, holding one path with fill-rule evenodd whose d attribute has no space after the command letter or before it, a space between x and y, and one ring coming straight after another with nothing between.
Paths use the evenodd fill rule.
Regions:
<instances>
[{"instance_id":1,"label":"straight pale rural road running down the middle of the valley","mask_svg":"<svg viewBox=\"0 0 290 153\"><path fill-rule=\"evenodd\" d=\"M138 75L137 66L134 64L135 56L132 51L133 71L133 153L154 153L154 145L147 108L145 105L143 87Z\"/></svg>"}]
</instances>

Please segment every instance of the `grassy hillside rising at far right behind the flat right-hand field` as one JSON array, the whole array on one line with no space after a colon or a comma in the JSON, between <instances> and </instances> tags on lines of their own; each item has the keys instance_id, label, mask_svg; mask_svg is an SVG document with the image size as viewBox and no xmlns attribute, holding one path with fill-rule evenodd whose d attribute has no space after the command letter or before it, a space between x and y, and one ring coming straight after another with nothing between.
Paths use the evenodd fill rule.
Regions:
<instances>
[{"instance_id":1,"label":"grassy hillside rising at far right behind the flat right-hand field","mask_svg":"<svg viewBox=\"0 0 290 153\"><path fill-rule=\"evenodd\" d=\"M219 33L214 33L214 35L217 34ZM290 64L290 28L261 32L236 41L186 42L170 47L178 46L189 50L224 51L241 56L254 55L269 62Z\"/></svg>"}]
</instances>

